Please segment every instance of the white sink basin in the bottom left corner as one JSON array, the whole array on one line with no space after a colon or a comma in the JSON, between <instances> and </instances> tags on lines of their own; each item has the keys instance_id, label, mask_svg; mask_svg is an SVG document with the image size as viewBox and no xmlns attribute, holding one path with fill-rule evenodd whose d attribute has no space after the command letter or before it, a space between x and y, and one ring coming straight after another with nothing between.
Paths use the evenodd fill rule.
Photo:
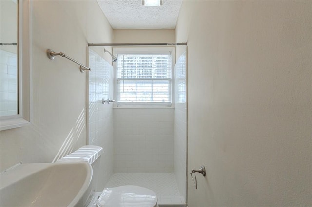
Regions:
<instances>
[{"instance_id":1,"label":"white sink basin in the bottom left corner","mask_svg":"<svg viewBox=\"0 0 312 207\"><path fill-rule=\"evenodd\" d=\"M91 178L87 162L20 164L1 173L0 206L83 206Z\"/></svg>"}]
</instances>

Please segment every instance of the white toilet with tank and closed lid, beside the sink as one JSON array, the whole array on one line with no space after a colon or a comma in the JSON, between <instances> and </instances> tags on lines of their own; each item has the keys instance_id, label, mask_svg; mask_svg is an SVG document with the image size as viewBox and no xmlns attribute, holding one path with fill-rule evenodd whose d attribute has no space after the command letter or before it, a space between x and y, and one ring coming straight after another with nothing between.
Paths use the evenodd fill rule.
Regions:
<instances>
[{"instance_id":1,"label":"white toilet with tank and closed lid, beside the sink","mask_svg":"<svg viewBox=\"0 0 312 207\"><path fill-rule=\"evenodd\" d=\"M158 207L156 193L140 186L118 186L96 192L102 147L87 145L59 159L57 162L88 162L93 175L89 189L83 196L85 207Z\"/></svg>"}]
</instances>

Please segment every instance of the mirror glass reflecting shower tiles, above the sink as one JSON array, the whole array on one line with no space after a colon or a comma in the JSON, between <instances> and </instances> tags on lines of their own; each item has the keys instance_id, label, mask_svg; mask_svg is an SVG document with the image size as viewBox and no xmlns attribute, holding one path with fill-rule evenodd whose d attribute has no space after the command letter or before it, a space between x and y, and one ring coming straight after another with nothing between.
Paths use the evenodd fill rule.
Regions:
<instances>
[{"instance_id":1,"label":"mirror glass reflecting shower tiles, above the sink","mask_svg":"<svg viewBox=\"0 0 312 207\"><path fill-rule=\"evenodd\" d=\"M0 115L18 111L18 1L0 1Z\"/></svg>"}]
</instances>

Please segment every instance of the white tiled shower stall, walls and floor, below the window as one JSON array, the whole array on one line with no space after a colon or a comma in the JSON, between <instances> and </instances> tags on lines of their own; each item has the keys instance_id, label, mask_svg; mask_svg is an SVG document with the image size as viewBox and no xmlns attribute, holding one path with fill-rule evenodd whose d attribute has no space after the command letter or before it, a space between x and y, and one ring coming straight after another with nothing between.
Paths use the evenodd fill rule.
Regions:
<instances>
[{"instance_id":1,"label":"white tiled shower stall, walls and floor, below the window","mask_svg":"<svg viewBox=\"0 0 312 207\"><path fill-rule=\"evenodd\" d=\"M186 203L186 53L175 66L175 108L113 108L113 66L89 50L88 144L103 147L98 191L138 185L158 204Z\"/></svg>"}]
</instances>

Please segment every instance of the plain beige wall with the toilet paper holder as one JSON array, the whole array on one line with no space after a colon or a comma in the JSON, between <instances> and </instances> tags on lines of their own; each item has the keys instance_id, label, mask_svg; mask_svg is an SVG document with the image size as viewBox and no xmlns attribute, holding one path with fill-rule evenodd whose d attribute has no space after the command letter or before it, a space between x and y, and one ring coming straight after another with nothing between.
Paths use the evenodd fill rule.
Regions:
<instances>
[{"instance_id":1,"label":"plain beige wall with the toilet paper holder","mask_svg":"<svg viewBox=\"0 0 312 207\"><path fill-rule=\"evenodd\" d=\"M311 1L183 1L188 204L311 206ZM179 55L179 52L176 52Z\"/></svg>"}]
</instances>

